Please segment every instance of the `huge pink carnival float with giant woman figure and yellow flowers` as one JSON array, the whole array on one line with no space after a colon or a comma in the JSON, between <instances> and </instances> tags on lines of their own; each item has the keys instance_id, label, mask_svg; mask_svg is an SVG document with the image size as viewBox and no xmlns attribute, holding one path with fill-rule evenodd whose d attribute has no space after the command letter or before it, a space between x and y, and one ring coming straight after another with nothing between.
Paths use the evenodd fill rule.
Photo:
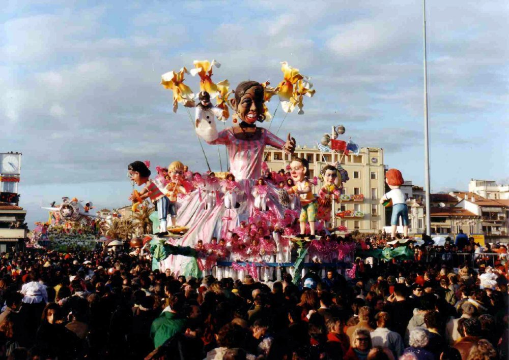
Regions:
<instances>
[{"instance_id":1,"label":"huge pink carnival float with giant woman figure and yellow flowers","mask_svg":"<svg viewBox=\"0 0 509 360\"><path fill-rule=\"evenodd\" d=\"M325 164L321 179L309 179L306 159L291 157L296 147L291 134L281 139L277 132L259 126L271 121L279 108L284 112L282 121L296 109L303 114L305 97L315 94L310 78L282 62L283 80L276 87L268 81L243 81L231 90L228 80L212 80L218 62L193 64L190 71L184 67L163 74L161 84L173 92L173 111L179 105L185 108L208 170L191 173L176 158L169 158L169 166L155 171L149 161L136 160L127 166L137 186L129 196L133 211L140 206L156 209L151 216L154 234L132 241L133 254L150 249L154 268L218 278L243 279L249 274L267 281L280 279L285 268L297 283L301 269L311 263L349 268L355 244L333 243L318 234L346 232L344 227L328 228L326 224L331 215L334 220L333 203L341 202L343 183L348 180L340 165L342 156L348 151L358 153L358 146L337 139L345 132L343 125L333 127L319 146L337 151L337 161ZM200 79L196 95L185 83L187 75ZM279 102L271 113L268 103L273 97ZM233 125L227 126L230 117ZM204 143L215 145L213 151ZM221 163L220 146L227 154L223 159L227 171L213 172L207 156L217 151ZM266 146L287 154L284 171L268 169ZM319 181L321 187L315 194Z\"/></svg>"}]
</instances>

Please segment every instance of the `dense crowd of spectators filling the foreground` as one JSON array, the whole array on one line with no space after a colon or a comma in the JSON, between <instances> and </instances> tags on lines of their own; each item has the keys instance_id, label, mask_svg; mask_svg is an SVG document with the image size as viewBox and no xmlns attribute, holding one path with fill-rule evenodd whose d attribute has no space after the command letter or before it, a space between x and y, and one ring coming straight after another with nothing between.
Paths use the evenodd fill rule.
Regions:
<instances>
[{"instance_id":1,"label":"dense crowd of spectators filling the foreground","mask_svg":"<svg viewBox=\"0 0 509 360\"><path fill-rule=\"evenodd\" d=\"M0 358L507 358L503 268L356 265L296 285L185 278L125 253L3 253Z\"/></svg>"}]
</instances>

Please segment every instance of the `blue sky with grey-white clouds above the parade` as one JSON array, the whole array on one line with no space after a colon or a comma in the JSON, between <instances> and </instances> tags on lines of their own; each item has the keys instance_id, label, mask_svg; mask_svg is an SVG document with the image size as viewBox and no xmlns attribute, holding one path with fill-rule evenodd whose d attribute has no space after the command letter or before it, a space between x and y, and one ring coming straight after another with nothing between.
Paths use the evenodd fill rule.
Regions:
<instances>
[{"instance_id":1,"label":"blue sky with grey-white clouds above the parade","mask_svg":"<svg viewBox=\"0 0 509 360\"><path fill-rule=\"evenodd\" d=\"M434 192L509 179L508 15L506 1L427 2ZM421 1L8 0L0 22L0 151L23 153L30 225L64 196L127 205L134 160L206 170L186 109L173 113L159 84L193 60L219 61L213 80L232 87L276 85L288 61L316 94L303 115L282 122L279 109L271 131L282 122L280 137L313 146L344 124L345 137L383 148L386 164L424 184ZM186 83L199 91L197 78ZM204 148L219 170L217 150Z\"/></svg>"}]
</instances>

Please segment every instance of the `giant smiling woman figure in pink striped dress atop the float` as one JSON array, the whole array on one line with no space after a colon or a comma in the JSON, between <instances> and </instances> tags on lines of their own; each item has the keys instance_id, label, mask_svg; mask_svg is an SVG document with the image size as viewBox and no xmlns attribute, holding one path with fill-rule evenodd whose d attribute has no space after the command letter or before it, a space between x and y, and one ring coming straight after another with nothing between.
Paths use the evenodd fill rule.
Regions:
<instances>
[{"instance_id":1,"label":"giant smiling woman figure in pink striped dress atop the float","mask_svg":"<svg viewBox=\"0 0 509 360\"><path fill-rule=\"evenodd\" d=\"M213 236L220 237L224 226L233 229L240 221L247 220L256 210L251 193L256 180L262 175L265 147L272 146L287 154L295 151L295 139L290 134L286 140L281 140L267 129L257 126L258 122L265 120L264 88L260 83L241 82L234 95L230 103L235 109L234 117L238 120L238 125L221 130L214 140L205 140L210 145L224 145L227 148L230 173L240 185L237 199L240 207L235 211L226 209L224 204L218 201L217 191L220 186L211 186L211 183L206 181L207 211L202 211L204 199L200 191L193 191L185 202L181 202L177 223L188 226L189 230L181 239L175 241L175 245L191 246L196 239L203 239L206 244ZM276 187L271 184L267 186L267 199L274 200L267 202L267 205L276 217L283 217L284 208L277 202ZM240 200L243 194L246 201ZM227 218L230 220L226 220ZM174 269L183 266L185 261L182 256L170 256L165 263L167 267Z\"/></svg>"}]
</instances>

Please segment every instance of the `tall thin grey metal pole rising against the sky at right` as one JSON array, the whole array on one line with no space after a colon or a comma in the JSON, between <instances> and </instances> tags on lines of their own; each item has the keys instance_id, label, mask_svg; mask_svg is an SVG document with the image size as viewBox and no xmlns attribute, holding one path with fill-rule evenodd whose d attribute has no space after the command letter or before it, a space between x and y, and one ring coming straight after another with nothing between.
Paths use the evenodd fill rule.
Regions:
<instances>
[{"instance_id":1,"label":"tall thin grey metal pole rising against the sky at right","mask_svg":"<svg viewBox=\"0 0 509 360\"><path fill-rule=\"evenodd\" d=\"M430 139L428 125L428 69L426 55L426 0L422 0L422 31L424 34L424 175L426 186L426 235L431 235L430 207Z\"/></svg>"}]
</instances>

